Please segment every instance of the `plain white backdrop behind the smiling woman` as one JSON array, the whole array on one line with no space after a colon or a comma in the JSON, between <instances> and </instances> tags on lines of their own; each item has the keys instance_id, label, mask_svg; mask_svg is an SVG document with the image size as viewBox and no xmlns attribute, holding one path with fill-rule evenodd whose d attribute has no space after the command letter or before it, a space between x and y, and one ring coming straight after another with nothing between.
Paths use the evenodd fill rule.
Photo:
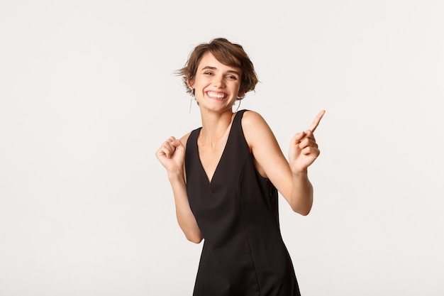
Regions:
<instances>
[{"instance_id":1,"label":"plain white backdrop behind the smiling woman","mask_svg":"<svg viewBox=\"0 0 444 296\"><path fill-rule=\"evenodd\" d=\"M243 45L284 154L326 109L304 296L444 295L444 1L1 1L0 295L192 295L201 245L155 150L200 126L174 70Z\"/></svg>"}]
</instances>

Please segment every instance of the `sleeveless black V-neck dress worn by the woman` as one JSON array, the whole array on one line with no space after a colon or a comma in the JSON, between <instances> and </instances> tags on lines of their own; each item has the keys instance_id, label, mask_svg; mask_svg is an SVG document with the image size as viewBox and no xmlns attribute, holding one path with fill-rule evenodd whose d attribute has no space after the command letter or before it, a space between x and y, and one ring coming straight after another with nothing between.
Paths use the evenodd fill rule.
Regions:
<instances>
[{"instance_id":1,"label":"sleeveless black V-neck dress worn by the woman","mask_svg":"<svg viewBox=\"0 0 444 296\"><path fill-rule=\"evenodd\" d=\"M279 230L277 190L255 169L238 111L211 182L187 141L189 204L204 236L194 296L300 295Z\"/></svg>"}]
</instances>

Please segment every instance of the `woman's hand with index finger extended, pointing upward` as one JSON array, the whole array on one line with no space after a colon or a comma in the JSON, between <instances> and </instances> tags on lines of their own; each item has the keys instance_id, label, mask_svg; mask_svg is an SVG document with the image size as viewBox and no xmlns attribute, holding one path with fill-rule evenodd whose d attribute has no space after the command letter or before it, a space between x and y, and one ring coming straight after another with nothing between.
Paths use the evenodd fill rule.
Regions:
<instances>
[{"instance_id":1,"label":"woman's hand with index finger extended, pointing upward","mask_svg":"<svg viewBox=\"0 0 444 296\"><path fill-rule=\"evenodd\" d=\"M320 151L313 132L325 113L324 110L319 112L308 130L296 133L292 138L289 149L289 163L293 173L306 172L307 168L318 158Z\"/></svg>"}]
</instances>

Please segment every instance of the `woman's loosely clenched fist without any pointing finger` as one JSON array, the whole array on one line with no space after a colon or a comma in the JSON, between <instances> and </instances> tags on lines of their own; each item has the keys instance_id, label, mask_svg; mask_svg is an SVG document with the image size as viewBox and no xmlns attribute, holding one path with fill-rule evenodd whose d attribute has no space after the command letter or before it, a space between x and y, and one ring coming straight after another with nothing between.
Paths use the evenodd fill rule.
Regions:
<instances>
[{"instance_id":1,"label":"woman's loosely clenched fist without any pointing finger","mask_svg":"<svg viewBox=\"0 0 444 296\"><path fill-rule=\"evenodd\" d=\"M180 172L184 168L185 147L171 136L157 150L156 157L168 172Z\"/></svg>"}]
</instances>

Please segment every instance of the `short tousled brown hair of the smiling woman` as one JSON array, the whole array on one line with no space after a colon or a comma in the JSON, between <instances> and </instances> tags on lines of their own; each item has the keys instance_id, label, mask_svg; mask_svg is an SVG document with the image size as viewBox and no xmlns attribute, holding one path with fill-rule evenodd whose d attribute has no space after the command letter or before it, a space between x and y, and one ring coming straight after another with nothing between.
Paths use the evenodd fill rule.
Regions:
<instances>
[{"instance_id":1,"label":"short tousled brown hair of the smiling woman","mask_svg":"<svg viewBox=\"0 0 444 296\"><path fill-rule=\"evenodd\" d=\"M240 77L240 89L242 93L238 99L243 99L247 92L255 90L255 86L259 80L255 72L255 67L252 65L250 57L248 57L243 47L236 43L231 43L226 38L215 38L209 43L201 43L197 45L192 53L190 53L185 67L177 70L177 75L182 76L187 92L191 94L192 90L189 89L187 82L192 80L197 72L199 62L205 53L210 52L216 57L216 60L223 65L238 67L242 71L242 77Z\"/></svg>"}]
</instances>

